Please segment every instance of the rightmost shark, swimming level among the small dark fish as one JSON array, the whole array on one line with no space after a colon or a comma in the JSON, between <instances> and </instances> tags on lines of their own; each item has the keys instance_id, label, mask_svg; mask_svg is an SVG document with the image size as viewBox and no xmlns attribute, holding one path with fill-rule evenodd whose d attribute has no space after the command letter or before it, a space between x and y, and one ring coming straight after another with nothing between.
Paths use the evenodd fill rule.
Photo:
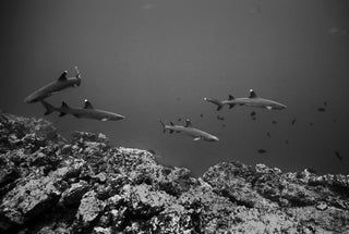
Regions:
<instances>
[{"instance_id":1,"label":"rightmost shark, swimming level among the small dark fish","mask_svg":"<svg viewBox=\"0 0 349 234\"><path fill-rule=\"evenodd\" d=\"M254 108L265 108L267 110L282 110L287 108L285 104L279 103L277 101L258 97L253 89L250 89L250 96L246 98L234 98L231 95L229 95L227 100L220 101L214 98L204 98L204 101L216 104L217 111L219 111L226 104L229 106L230 109L233 108L236 104Z\"/></svg>"}]
</instances>

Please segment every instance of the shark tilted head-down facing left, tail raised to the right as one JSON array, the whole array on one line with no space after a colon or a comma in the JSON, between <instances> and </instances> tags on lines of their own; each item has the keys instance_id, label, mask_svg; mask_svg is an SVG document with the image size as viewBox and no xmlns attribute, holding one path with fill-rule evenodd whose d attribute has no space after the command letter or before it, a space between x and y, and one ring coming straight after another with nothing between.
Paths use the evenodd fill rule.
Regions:
<instances>
[{"instance_id":1,"label":"shark tilted head-down facing left, tail raised to the right","mask_svg":"<svg viewBox=\"0 0 349 234\"><path fill-rule=\"evenodd\" d=\"M48 85L37 89L29 96L24 99L25 103L33 103L44 100L47 97L50 97L55 94L60 93L61 90L69 87L76 87L81 85L81 74L75 66L76 75L75 77L67 77L68 71L64 71L57 81L49 83Z\"/></svg>"}]
</instances>

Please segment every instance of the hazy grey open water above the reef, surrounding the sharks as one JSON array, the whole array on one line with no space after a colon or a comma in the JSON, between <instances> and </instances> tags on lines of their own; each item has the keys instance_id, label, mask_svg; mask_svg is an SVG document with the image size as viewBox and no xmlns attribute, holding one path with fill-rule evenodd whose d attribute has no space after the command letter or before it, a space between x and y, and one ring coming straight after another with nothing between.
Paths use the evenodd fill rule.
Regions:
<instances>
[{"instance_id":1,"label":"hazy grey open water above the reef, surrounding the sharks","mask_svg":"<svg viewBox=\"0 0 349 234\"><path fill-rule=\"evenodd\" d=\"M74 76L76 65L81 86L45 100L83 107L88 99L125 119L45 116L64 136L100 132L116 146L153 149L163 163L193 175L231 160L349 173L346 0L13 0L0 11L7 112L44 118L44 107L25 97L64 70ZM217 112L203 101L248 97L251 88L287 109ZM159 119L190 119L219 141L164 134Z\"/></svg>"}]
</instances>

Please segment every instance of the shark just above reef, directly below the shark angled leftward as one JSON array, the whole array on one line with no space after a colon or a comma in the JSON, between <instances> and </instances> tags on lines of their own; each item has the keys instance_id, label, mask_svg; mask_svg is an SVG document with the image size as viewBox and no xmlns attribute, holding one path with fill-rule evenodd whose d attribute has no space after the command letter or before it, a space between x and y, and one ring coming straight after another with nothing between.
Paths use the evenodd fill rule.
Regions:
<instances>
[{"instance_id":1,"label":"shark just above reef, directly below the shark angled leftward","mask_svg":"<svg viewBox=\"0 0 349 234\"><path fill-rule=\"evenodd\" d=\"M85 104L83 108L71 108L64 101L62 101L62 106L60 108L53 107L45 100L40 100L40 102L46 109L44 115L48 115L57 111L60 113L59 116L72 114L75 118L84 118L99 121L118 121L125 119L125 116L121 114L95 109L87 99L85 99Z\"/></svg>"}]
</instances>

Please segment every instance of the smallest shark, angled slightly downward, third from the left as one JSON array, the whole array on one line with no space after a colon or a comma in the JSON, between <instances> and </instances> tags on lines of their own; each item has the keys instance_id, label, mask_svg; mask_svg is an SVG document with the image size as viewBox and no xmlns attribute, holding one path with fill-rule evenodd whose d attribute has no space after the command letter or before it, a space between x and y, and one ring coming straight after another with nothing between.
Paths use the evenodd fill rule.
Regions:
<instances>
[{"instance_id":1,"label":"smallest shark, angled slightly downward, third from the left","mask_svg":"<svg viewBox=\"0 0 349 234\"><path fill-rule=\"evenodd\" d=\"M172 122L170 122L170 125L165 125L165 123L161 120L159 120L159 122L163 126L164 133L166 133L166 131L169 131L170 134L176 132L190 136L193 138L193 140L219 141L217 136L214 136L209 133L193 127L193 124L189 119L185 120L184 126L174 125Z\"/></svg>"}]
</instances>

